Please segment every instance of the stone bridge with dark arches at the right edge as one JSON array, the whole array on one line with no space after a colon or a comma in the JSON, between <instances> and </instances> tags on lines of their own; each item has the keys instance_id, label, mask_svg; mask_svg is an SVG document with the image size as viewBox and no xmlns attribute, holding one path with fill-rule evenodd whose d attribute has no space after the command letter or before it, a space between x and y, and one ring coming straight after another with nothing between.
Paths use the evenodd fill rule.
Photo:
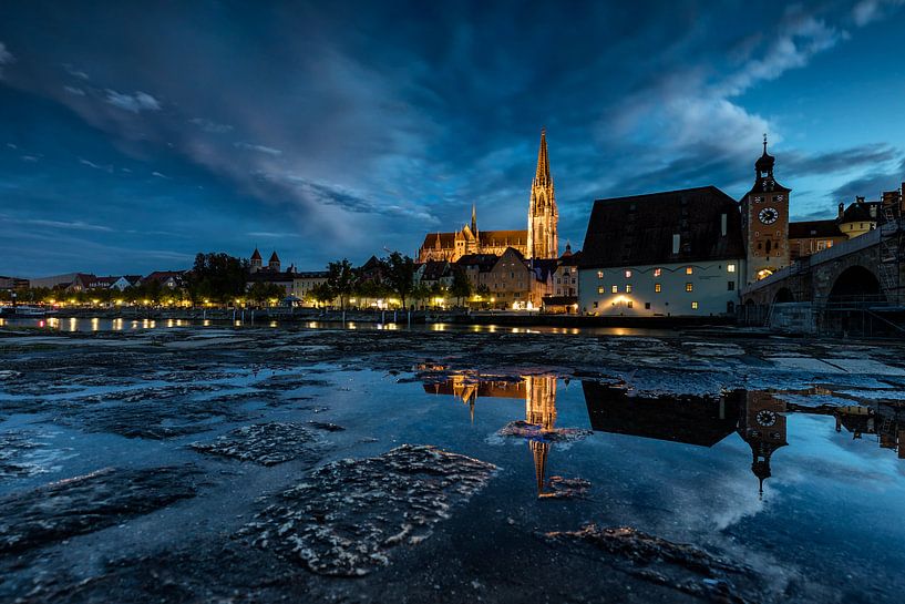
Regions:
<instances>
[{"instance_id":1,"label":"stone bridge with dark arches at the right edge","mask_svg":"<svg viewBox=\"0 0 905 604\"><path fill-rule=\"evenodd\" d=\"M747 324L803 321L801 330L821 331L845 327L853 311L888 323L882 315L905 311L905 217L801 258L742 288L740 297Z\"/></svg>"}]
</instances>

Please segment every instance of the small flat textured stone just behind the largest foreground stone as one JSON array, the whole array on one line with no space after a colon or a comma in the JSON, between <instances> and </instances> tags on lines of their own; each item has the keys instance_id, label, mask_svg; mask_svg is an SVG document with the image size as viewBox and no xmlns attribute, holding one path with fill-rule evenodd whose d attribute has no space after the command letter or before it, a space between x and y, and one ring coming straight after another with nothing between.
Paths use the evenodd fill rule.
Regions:
<instances>
[{"instance_id":1,"label":"small flat textured stone just behind the largest foreground stone","mask_svg":"<svg viewBox=\"0 0 905 604\"><path fill-rule=\"evenodd\" d=\"M315 434L297 422L254 423L236 428L213 442L193 442L202 453L275 465L295 459L311 463L320 458Z\"/></svg>"}]
</instances>

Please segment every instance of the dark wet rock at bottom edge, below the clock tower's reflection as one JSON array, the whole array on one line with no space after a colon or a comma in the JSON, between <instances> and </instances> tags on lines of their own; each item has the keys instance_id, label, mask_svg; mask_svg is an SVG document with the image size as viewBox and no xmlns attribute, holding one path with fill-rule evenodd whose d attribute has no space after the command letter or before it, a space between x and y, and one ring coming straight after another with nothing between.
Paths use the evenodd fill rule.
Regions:
<instances>
[{"instance_id":1,"label":"dark wet rock at bottom edge, below the clock tower's reflection","mask_svg":"<svg viewBox=\"0 0 905 604\"><path fill-rule=\"evenodd\" d=\"M545 536L567 546L592 545L604 554L608 566L697 597L727 603L763 600L758 577L748 566L630 526L587 524L578 531L556 531Z\"/></svg>"}]
</instances>

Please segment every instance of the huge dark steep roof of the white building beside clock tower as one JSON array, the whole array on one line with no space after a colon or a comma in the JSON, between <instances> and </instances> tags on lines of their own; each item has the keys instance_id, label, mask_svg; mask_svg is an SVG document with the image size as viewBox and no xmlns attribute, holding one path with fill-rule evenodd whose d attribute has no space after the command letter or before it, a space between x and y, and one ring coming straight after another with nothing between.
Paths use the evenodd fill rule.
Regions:
<instances>
[{"instance_id":1,"label":"huge dark steep roof of the white building beside clock tower","mask_svg":"<svg viewBox=\"0 0 905 604\"><path fill-rule=\"evenodd\" d=\"M722 235L722 215L727 232ZM673 236L679 250L673 253ZM639 266L744 257L739 205L714 186L594 202L579 266Z\"/></svg>"}]
</instances>

